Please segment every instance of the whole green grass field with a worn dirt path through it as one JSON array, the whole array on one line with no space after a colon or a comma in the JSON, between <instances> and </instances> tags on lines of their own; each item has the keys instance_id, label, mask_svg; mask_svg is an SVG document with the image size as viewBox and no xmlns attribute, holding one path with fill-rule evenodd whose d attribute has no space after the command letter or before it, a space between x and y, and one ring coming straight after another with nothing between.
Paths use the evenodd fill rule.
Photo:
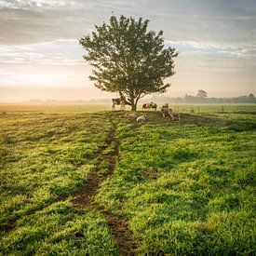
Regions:
<instances>
[{"instance_id":1,"label":"whole green grass field with a worn dirt path through it","mask_svg":"<svg viewBox=\"0 0 256 256\"><path fill-rule=\"evenodd\" d=\"M108 108L0 106L0 254L255 255L256 106Z\"/></svg>"}]
</instances>

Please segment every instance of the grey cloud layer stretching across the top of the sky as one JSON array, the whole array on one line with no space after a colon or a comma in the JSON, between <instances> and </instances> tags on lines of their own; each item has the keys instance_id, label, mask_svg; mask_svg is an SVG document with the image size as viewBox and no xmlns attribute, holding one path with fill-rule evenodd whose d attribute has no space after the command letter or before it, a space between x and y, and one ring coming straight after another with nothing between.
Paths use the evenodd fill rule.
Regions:
<instances>
[{"instance_id":1,"label":"grey cloud layer stretching across the top of the sky","mask_svg":"<svg viewBox=\"0 0 256 256\"><path fill-rule=\"evenodd\" d=\"M256 43L255 13L255 0L0 0L0 44L79 38L113 14L149 19L167 40Z\"/></svg>"}]
</instances>

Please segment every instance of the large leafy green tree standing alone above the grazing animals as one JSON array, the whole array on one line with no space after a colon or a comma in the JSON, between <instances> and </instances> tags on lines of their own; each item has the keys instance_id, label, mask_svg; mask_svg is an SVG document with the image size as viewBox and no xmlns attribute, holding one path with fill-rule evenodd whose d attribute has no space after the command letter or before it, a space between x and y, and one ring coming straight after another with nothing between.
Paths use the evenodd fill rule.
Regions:
<instances>
[{"instance_id":1,"label":"large leafy green tree standing alone above the grazing animals","mask_svg":"<svg viewBox=\"0 0 256 256\"><path fill-rule=\"evenodd\" d=\"M121 92L132 110L146 94L166 92L164 80L174 74L175 48L165 47L163 32L147 31L149 20L120 16L95 26L79 43L86 49L84 59L93 66L89 79L96 88Z\"/></svg>"}]
</instances>

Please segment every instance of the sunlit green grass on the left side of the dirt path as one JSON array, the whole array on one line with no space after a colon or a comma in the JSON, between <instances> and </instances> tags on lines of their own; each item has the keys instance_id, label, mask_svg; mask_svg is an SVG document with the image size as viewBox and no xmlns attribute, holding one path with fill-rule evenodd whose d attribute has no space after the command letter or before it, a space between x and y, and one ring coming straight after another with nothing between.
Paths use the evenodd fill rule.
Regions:
<instances>
[{"instance_id":1,"label":"sunlit green grass on the left side of the dirt path","mask_svg":"<svg viewBox=\"0 0 256 256\"><path fill-rule=\"evenodd\" d=\"M14 113L0 120L3 255L115 251L106 221L75 209L68 198L95 168L109 118Z\"/></svg>"}]
</instances>

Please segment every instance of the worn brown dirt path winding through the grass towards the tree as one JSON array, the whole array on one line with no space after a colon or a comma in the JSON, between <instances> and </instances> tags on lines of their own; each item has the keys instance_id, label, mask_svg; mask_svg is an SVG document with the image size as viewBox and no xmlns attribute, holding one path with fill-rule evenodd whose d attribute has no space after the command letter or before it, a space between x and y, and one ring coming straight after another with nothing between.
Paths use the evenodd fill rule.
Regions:
<instances>
[{"instance_id":1,"label":"worn brown dirt path winding through the grass towards the tree","mask_svg":"<svg viewBox=\"0 0 256 256\"><path fill-rule=\"evenodd\" d=\"M135 255L136 246L128 230L128 222L122 216L114 215L104 210L103 206L98 207L94 204L94 196L98 193L101 182L113 174L116 160L119 157L119 141L115 138L117 125L112 119L110 121L112 128L108 133L108 146L101 150L98 162L100 164L102 160L106 161L109 165L108 171L106 174L100 174L97 171L90 172L84 189L73 195L73 202L77 208L99 211L109 223L110 230L115 237L115 242L119 249L119 255L129 256ZM114 150L109 151L110 153L103 154L103 151L113 144Z\"/></svg>"}]
</instances>

